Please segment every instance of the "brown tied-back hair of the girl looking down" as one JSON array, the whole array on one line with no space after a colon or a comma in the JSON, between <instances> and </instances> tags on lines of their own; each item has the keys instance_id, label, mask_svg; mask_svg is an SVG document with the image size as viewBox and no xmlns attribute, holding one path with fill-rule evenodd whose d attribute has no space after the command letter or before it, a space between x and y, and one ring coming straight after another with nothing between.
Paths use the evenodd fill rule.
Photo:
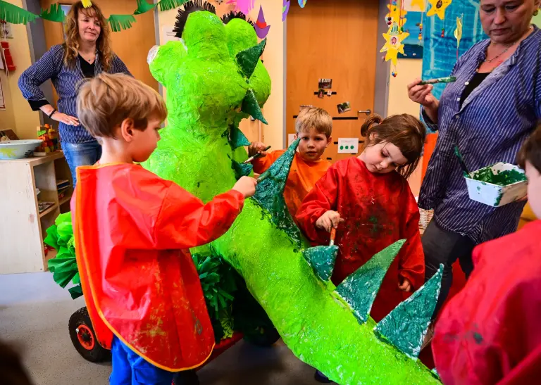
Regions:
<instances>
[{"instance_id":1,"label":"brown tied-back hair of the girl looking down","mask_svg":"<svg viewBox=\"0 0 541 385\"><path fill-rule=\"evenodd\" d=\"M371 134L374 134L371 137ZM413 115L403 113L382 119L380 115L371 115L361 126L361 135L366 137L364 146L388 141L397 146L408 161L397 168L404 178L408 178L417 168L425 144L425 125Z\"/></svg>"}]
</instances>

